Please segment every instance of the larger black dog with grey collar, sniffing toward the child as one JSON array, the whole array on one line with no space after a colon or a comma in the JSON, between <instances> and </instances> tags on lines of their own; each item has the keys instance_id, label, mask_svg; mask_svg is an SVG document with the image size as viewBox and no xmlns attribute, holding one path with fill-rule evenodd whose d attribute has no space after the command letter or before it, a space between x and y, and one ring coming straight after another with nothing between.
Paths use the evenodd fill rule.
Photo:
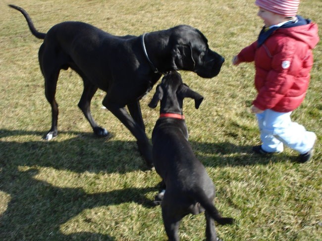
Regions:
<instances>
[{"instance_id":1,"label":"larger black dog with grey collar, sniffing toward the child","mask_svg":"<svg viewBox=\"0 0 322 241\"><path fill-rule=\"evenodd\" d=\"M52 128L45 136L47 140L57 135L55 92L59 71L71 68L84 81L78 106L94 133L108 135L90 112L91 99L100 88L107 92L103 105L136 137L139 151L151 165L151 145L145 133L140 98L162 73L188 70L203 78L213 78L224 62L223 57L209 49L205 36L190 26L180 25L139 37L119 37L86 23L62 22L45 34L35 29L24 9L9 6L24 15L35 37L44 40L39 49L39 63L45 78L45 95L52 106Z\"/></svg>"}]
</instances>

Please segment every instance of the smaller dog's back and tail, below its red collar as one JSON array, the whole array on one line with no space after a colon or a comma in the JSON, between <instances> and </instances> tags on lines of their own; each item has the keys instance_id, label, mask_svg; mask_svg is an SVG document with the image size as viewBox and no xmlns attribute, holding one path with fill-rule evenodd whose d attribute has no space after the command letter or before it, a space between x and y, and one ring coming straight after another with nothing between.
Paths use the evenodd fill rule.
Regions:
<instances>
[{"instance_id":1,"label":"smaller dog's back and tail, below its red collar","mask_svg":"<svg viewBox=\"0 0 322 241\"><path fill-rule=\"evenodd\" d=\"M199 214L207 209L220 224L229 223L215 209L215 186L204 165L185 138L184 120L161 118L153 130L153 160L166 186L164 199L177 215ZM164 201L163 199L163 201ZM180 200L180 202L177 202Z\"/></svg>"}]
</instances>

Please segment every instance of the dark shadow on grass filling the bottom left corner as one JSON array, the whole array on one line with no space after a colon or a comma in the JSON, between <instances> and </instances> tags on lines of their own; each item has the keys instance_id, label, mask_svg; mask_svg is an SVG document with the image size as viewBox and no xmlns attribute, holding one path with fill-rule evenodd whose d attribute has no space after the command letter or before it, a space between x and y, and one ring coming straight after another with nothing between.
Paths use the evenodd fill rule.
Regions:
<instances>
[{"instance_id":1,"label":"dark shadow on grass filling the bottom left corner","mask_svg":"<svg viewBox=\"0 0 322 241\"><path fill-rule=\"evenodd\" d=\"M104 211L107 213L102 214L101 206L130 205L132 202L148 208L153 206L145 195L155 191L154 187L88 194L82 188L60 188L37 180L37 174L36 168L19 170L10 163L1 165L0 191L10 195L6 210L0 212L1 240L114 241L115 238L102 234L102 217L95 220L101 213L106 217L107 224L111 222L112 217L109 217L106 209ZM2 203L2 208L3 205L5 203ZM99 208L96 215L86 215L87 210L93 211L95 208ZM71 219L76 221L69 222ZM82 223L85 224L82 226ZM99 232L83 232L88 227L91 230L94 227ZM77 232L79 230L82 232ZM110 230L105 232L109 233Z\"/></svg>"}]
</instances>

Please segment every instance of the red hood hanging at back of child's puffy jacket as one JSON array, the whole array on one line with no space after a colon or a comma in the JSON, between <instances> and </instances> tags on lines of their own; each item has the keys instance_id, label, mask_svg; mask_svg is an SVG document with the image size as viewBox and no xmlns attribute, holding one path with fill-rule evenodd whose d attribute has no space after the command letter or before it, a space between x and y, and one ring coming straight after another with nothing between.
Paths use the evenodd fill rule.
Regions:
<instances>
[{"instance_id":1,"label":"red hood hanging at back of child's puffy jacket","mask_svg":"<svg viewBox=\"0 0 322 241\"><path fill-rule=\"evenodd\" d=\"M276 30L278 33L283 33L291 38L296 40L305 42L313 49L319 42L320 38L318 35L318 25L312 23L308 19L303 19L298 16L299 22L303 23L306 21L304 25L286 25Z\"/></svg>"}]
</instances>

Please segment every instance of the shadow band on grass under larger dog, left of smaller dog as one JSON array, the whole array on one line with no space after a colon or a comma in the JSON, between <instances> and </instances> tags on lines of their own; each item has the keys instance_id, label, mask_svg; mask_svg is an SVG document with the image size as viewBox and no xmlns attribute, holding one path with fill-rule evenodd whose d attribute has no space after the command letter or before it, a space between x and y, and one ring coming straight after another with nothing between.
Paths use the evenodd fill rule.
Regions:
<instances>
[{"instance_id":1,"label":"shadow band on grass under larger dog, left of smaller dog","mask_svg":"<svg viewBox=\"0 0 322 241\"><path fill-rule=\"evenodd\" d=\"M98 138L93 133L59 133L71 137L62 141L58 135L51 141L45 141L42 139L43 132L0 129L0 157L17 166L37 165L78 173L103 171L123 174L146 168L135 141ZM24 141L31 139L28 136L39 141ZM1 141L1 138L10 137L14 140Z\"/></svg>"}]
</instances>

